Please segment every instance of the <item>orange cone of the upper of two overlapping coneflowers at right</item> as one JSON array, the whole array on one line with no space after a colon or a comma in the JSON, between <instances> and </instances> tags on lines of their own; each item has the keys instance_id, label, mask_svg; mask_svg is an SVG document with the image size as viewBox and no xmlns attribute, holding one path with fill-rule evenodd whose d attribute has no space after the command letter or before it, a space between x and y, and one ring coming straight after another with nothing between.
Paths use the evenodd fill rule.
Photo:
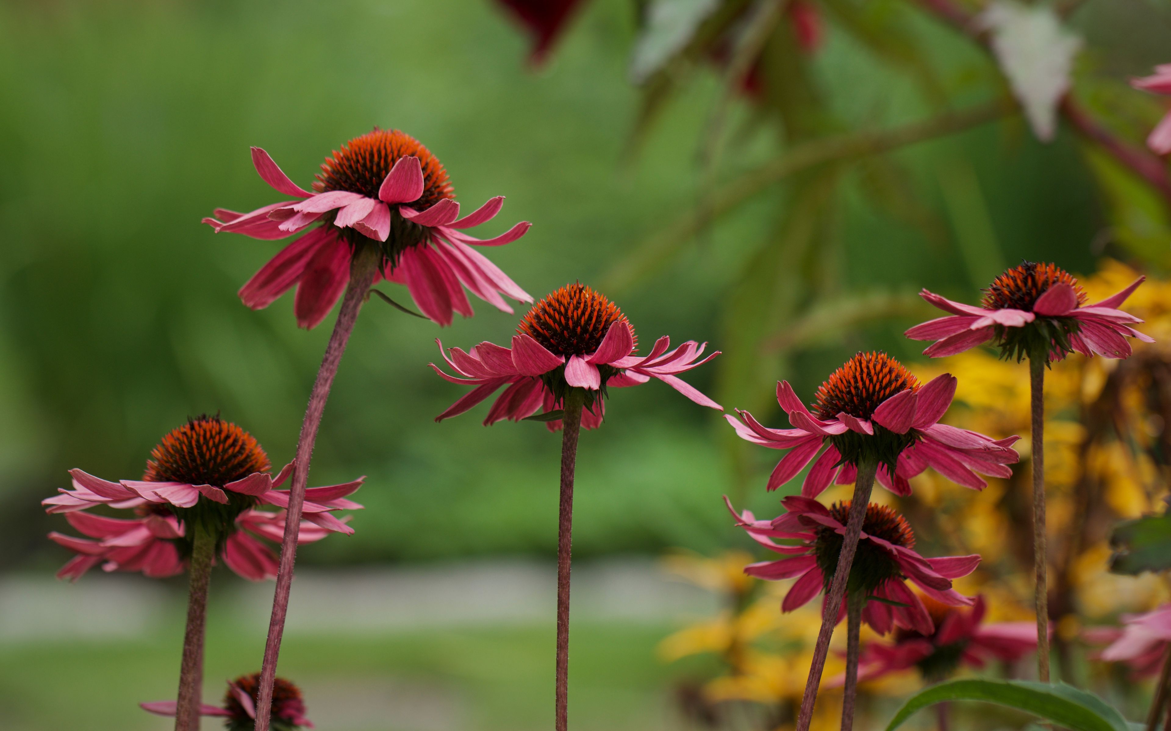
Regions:
<instances>
[{"instance_id":1,"label":"orange cone of the upper of two overlapping coneflowers at right","mask_svg":"<svg viewBox=\"0 0 1171 731\"><path fill-rule=\"evenodd\" d=\"M842 412L870 419L879 404L908 388L918 391L919 379L903 364L886 353L858 353L817 388L813 408L821 419L834 419Z\"/></svg>"}]
</instances>

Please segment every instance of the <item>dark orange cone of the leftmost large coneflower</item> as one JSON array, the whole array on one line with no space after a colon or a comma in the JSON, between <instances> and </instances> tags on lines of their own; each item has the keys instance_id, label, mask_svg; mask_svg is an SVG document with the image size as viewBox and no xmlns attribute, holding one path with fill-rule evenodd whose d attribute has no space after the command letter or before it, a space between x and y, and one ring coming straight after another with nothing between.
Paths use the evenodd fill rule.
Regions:
<instances>
[{"instance_id":1,"label":"dark orange cone of the leftmost large coneflower","mask_svg":"<svg viewBox=\"0 0 1171 731\"><path fill-rule=\"evenodd\" d=\"M201 415L163 437L146 461L146 482L184 482L222 488L253 473L272 469L268 455L240 427Z\"/></svg>"}]
</instances>

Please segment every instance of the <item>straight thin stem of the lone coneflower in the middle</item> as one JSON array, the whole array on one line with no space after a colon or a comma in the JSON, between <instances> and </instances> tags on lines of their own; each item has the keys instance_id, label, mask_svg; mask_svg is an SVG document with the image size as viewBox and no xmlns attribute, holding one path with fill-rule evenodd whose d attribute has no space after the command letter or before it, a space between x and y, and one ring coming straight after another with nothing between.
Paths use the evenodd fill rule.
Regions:
<instances>
[{"instance_id":1,"label":"straight thin stem of the lone coneflower in the middle","mask_svg":"<svg viewBox=\"0 0 1171 731\"><path fill-rule=\"evenodd\" d=\"M566 395L561 418L561 508L557 522L557 670L556 731L569 727L569 567L573 551L574 470L581 432L584 394L573 388Z\"/></svg>"}]
</instances>

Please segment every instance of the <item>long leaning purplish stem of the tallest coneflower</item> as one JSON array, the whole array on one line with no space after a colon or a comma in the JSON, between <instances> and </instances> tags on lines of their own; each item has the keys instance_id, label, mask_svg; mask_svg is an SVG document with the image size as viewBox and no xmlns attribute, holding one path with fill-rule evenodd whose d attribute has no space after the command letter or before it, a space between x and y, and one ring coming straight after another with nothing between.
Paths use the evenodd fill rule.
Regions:
<instances>
[{"instance_id":1,"label":"long leaning purplish stem of the tallest coneflower","mask_svg":"<svg viewBox=\"0 0 1171 731\"><path fill-rule=\"evenodd\" d=\"M281 635L285 633L285 615L289 608L289 589L293 585L293 561L296 559L296 540L301 530L301 508L304 503L304 488L309 481L309 460L313 457L313 443L317 439L317 427L326 409L329 389L337 374L337 365L342 360L345 344L354 332L354 323L358 318L362 303L365 302L370 285L378 271L381 254L377 247L365 246L354 255L350 262L350 283L345 288L342 309L337 313L334 332L329 336L326 356L321 360L317 379L309 394L309 406L304 411L301 423L301 436L296 443L296 456L293 457L293 488L289 490L289 506L285 517L285 538L281 542L281 561L276 570L276 592L273 596L273 615L268 622L268 640L265 643L265 661L260 670L260 695L256 701L255 731L268 731L268 720L273 705L273 682L276 678L276 657L281 651Z\"/></svg>"}]
</instances>

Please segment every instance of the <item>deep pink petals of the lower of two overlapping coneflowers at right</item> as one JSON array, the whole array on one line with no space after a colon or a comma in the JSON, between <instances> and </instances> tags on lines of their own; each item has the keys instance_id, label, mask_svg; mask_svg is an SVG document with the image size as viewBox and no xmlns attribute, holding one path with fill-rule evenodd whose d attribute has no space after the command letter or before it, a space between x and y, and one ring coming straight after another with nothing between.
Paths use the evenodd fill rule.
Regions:
<instances>
[{"instance_id":1,"label":"deep pink petals of the lower of two overlapping coneflowers at right","mask_svg":"<svg viewBox=\"0 0 1171 731\"><path fill-rule=\"evenodd\" d=\"M815 552L817 531L828 527L840 535L845 532L845 525L836 519L828 508L813 498L790 495L781 502L787 512L772 520L758 520L748 510L738 513L727 497L724 502L735 518L737 525L753 540L785 557L773 561L749 564L744 570L748 575L769 581L796 579L781 602L782 612L792 612L822 592L828 581L817 565ZM799 543L779 544L774 539ZM972 573L980 563L979 556L924 558L912 549L863 530L858 551L867 550L884 552L899 572L898 575L879 584L862 611L863 621L879 634L886 634L896 626L925 635L934 632L930 613L918 594L910 589L908 581L919 592L947 606L972 606L975 601L953 589L951 580ZM824 604L824 599L822 602ZM822 608L824 609L824 606ZM844 616L845 598L842 599L838 621Z\"/></svg>"}]
</instances>

